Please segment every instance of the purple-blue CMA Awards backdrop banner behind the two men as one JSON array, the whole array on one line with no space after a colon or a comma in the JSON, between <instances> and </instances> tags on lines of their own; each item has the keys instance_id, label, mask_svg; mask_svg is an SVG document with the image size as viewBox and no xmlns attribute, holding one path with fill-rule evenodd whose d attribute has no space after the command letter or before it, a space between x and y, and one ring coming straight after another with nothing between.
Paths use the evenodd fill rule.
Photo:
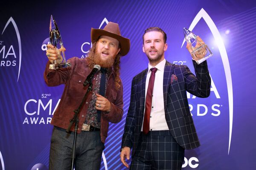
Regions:
<instances>
[{"instance_id":1,"label":"purple-blue CMA Awards backdrop banner behind the two men","mask_svg":"<svg viewBox=\"0 0 256 170\"><path fill-rule=\"evenodd\" d=\"M110 21L131 40L130 52L121 59L124 114L121 122L110 123L101 170L125 169L119 150L131 80L148 65L142 35L152 26L167 34L169 62L194 72L183 27L202 37L214 54L207 60L210 96L187 94L201 146L186 150L183 169L256 169L254 0L14 1L1 2L0 14L0 170L48 169L50 121L64 89L48 87L43 78L51 14L67 59L87 57L90 29Z\"/></svg>"}]
</instances>

